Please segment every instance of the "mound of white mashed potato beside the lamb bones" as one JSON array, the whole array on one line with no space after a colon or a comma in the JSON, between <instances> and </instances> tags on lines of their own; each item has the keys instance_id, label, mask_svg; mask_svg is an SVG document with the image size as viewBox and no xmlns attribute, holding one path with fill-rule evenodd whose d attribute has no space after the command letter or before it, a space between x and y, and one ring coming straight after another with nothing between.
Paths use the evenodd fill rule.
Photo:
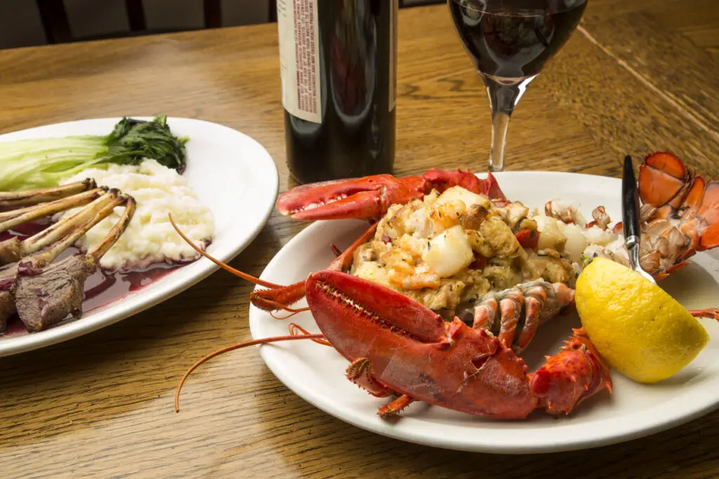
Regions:
<instances>
[{"instance_id":1,"label":"mound of white mashed potato beside the lamb bones","mask_svg":"<svg viewBox=\"0 0 719 479\"><path fill-rule=\"evenodd\" d=\"M108 169L86 169L63 181L70 183L94 178L98 185L118 188L137 200L132 221L117 243L103 256L103 269L138 269L157 262L184 262L198 259L199 254L186 243L170 224L168 213L183 233L201 248L214 235L214 216L202 205L186 178L147 159L137 166L112 164ZM79 245L83 251L97 246L117 223L123 208L115 208L84 236ZM64 215L74 212L68 211Z\"/></svg>"}]
</instances>

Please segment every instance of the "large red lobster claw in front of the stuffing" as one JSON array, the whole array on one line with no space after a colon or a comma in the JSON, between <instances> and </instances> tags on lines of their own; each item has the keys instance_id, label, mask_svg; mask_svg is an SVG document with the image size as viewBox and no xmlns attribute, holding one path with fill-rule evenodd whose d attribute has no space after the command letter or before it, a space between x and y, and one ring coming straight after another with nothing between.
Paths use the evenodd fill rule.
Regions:
<instances>
[{"instance_id":1,"label":"large red lobster claw in front of the stuffing","mask_svg":"<svg viewBox=\"0 0 719 479\"><path fill-rule=\"evenodd\" d=\"M372 378L420 401L484 417L521 419L537 404L527 367L486 330L474 330L340 271L307 280L307 303L329 343Z\"/></svg>"}]
</instances>

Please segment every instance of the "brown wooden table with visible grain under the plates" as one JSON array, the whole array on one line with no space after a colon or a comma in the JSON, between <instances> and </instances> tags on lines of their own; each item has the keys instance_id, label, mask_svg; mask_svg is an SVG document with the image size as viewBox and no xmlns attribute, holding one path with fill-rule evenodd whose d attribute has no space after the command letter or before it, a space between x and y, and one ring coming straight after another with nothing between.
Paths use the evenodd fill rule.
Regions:
<instances>
[{"instance_id":1,"label":"brown wooden table with visible grain under the plates","mask_svg":"<svg viewBox=\"0 0 719 479\"><path fill-rule=\"evenodd\" d=\"M489 108L446 6L400 14L398 55L398 175L483 169ZM624 154L671 149L718 175L718 60L715 0L591 0L516 111L508 168L618 175ZM285 190L281 108L274 25L0 51L0 132L127 114L202 118L264 144ZM273 215L233 266L260 274L303 226ZM250 288L218 272L104 330L1 358L0 476L719 477L719 413L583 452L437 450L324 414L255 350L203 366L175 414L186 368L250 337Z\"/></svg>"}]
</instances>

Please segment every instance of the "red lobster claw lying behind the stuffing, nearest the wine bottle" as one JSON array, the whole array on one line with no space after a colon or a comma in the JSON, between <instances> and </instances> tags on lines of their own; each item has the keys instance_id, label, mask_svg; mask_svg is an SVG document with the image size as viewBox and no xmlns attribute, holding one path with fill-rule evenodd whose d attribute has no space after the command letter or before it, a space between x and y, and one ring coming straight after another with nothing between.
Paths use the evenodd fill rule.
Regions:
<instances>
[{"instance_id":1,"label":"red lobster claw lying behind the stuffing, nearest the wine bottle","mask_svg":"<svg viewBox=\"0 0 719 479\"><path fill-rule=\"evenodd\" d=\"M405 204L433 189L443 192L457 185L490 198L505 199L491 173L481 180L469 171L431 169L421 177L373 175L301 185L280 195L277 209L294 220L379 218L390 205Z\"/></svg>"}]
</instances>

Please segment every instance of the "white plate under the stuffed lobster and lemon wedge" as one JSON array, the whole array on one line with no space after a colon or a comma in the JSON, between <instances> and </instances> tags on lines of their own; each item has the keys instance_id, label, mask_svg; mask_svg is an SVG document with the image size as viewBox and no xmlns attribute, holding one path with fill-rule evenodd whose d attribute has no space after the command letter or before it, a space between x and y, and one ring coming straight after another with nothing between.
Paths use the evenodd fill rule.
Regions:
<instances>
[{"instance_id":1,"label":"white plate under the stuffed lobster and lemon wedge","mask_svg":"<svg viewBox=\"0 0 719 479\"><path fill-rule=\"evenodd\" d=\"M620 180L554 172L506 172L497 175L512 200L543 207L561 197L580 200L581 211L591 218L597 205L605 205L613 221L621 219ZM267 265L262 279L289 284L323 269L334 257L329 243L349 246L367 227L359 220L315 223L293 238ZM678 271L662 285L690 308L716 306L719 300L719 261L715 254L697 254L695 264ZM305 302L298 305L306 305ZM308 312L294 322L319 332ZM273 320L252 307L249 325L253 338L287 334L288 321ZM585 401L567 417L553 419L535 411L523 421L495 421L472 417L437 406L415 403L395 422L377 417L376 399L344 378L347 361L335 350L309 341L260 346L267 366L280 381L319 409L378 434L424 445L456 450L528 453L576 450L631 440L706 414L719 404L719 324L702 320L712 341L681 373L667 381L644 386L613 373L613 394L603 391ZM577 327L577 315L556 317L538 332L523 358L533 370L544 354L553 354Z\"/></svg>"}]
</instances>

